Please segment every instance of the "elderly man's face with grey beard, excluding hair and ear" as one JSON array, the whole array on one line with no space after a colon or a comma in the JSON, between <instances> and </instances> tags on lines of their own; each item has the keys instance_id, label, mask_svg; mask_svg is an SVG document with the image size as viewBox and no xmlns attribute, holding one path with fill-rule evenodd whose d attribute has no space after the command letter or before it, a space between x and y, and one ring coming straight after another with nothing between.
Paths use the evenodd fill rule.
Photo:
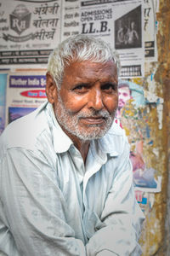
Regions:
<instances>
[{"instance_id":1,"label":"elderly man's face with grey beard, excluding hair and ear","mask_svg":"<svg viewBox=\"0 0 170 256\"><path fill-rule=\"evenodd\" d=\"M54 113L65 133L90 140L111 128L118 104L116 65L72 62L65 68Z\"/></svg>"}]
</instances>

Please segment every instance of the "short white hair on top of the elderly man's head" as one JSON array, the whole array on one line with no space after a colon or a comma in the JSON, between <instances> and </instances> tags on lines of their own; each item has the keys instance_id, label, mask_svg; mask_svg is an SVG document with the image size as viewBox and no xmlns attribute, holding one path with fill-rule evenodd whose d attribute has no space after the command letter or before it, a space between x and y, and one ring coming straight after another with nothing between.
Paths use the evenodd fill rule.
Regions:
<instances>
[{"instance_id":1,"label":"short white hair on top of the elderly man's head","mask_svg":"<svg viewBox=\"0 0 170 256\"><path fill-rule=\"evenodd\" d=\"M65 67L69 66L71 61L88 60L100 63L114 61L117 73L119 72L119 57L116 51L111 49L111 45L101 38L82 34L67 38L52 51L48 58L48 72L60 89Z\"/></svg>"}]
</instances>

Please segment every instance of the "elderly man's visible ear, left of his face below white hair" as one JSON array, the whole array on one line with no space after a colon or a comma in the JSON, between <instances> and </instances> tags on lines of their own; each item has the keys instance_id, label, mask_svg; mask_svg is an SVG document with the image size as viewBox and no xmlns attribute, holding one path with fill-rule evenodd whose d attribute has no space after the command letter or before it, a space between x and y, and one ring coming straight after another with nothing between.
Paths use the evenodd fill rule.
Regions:
<instances>
[{"instance_id":1,"label":"elderly man's visible ear, left of his face below white hair","mask_svg":"<svg viewBox=\"0 0 170 256\"><path fill-rule=\"evenodd\" d=\"M46 73L46 94L48 102L53 104L57 96L57 86L49 72Z\"/></svg>"}]
</instances>

